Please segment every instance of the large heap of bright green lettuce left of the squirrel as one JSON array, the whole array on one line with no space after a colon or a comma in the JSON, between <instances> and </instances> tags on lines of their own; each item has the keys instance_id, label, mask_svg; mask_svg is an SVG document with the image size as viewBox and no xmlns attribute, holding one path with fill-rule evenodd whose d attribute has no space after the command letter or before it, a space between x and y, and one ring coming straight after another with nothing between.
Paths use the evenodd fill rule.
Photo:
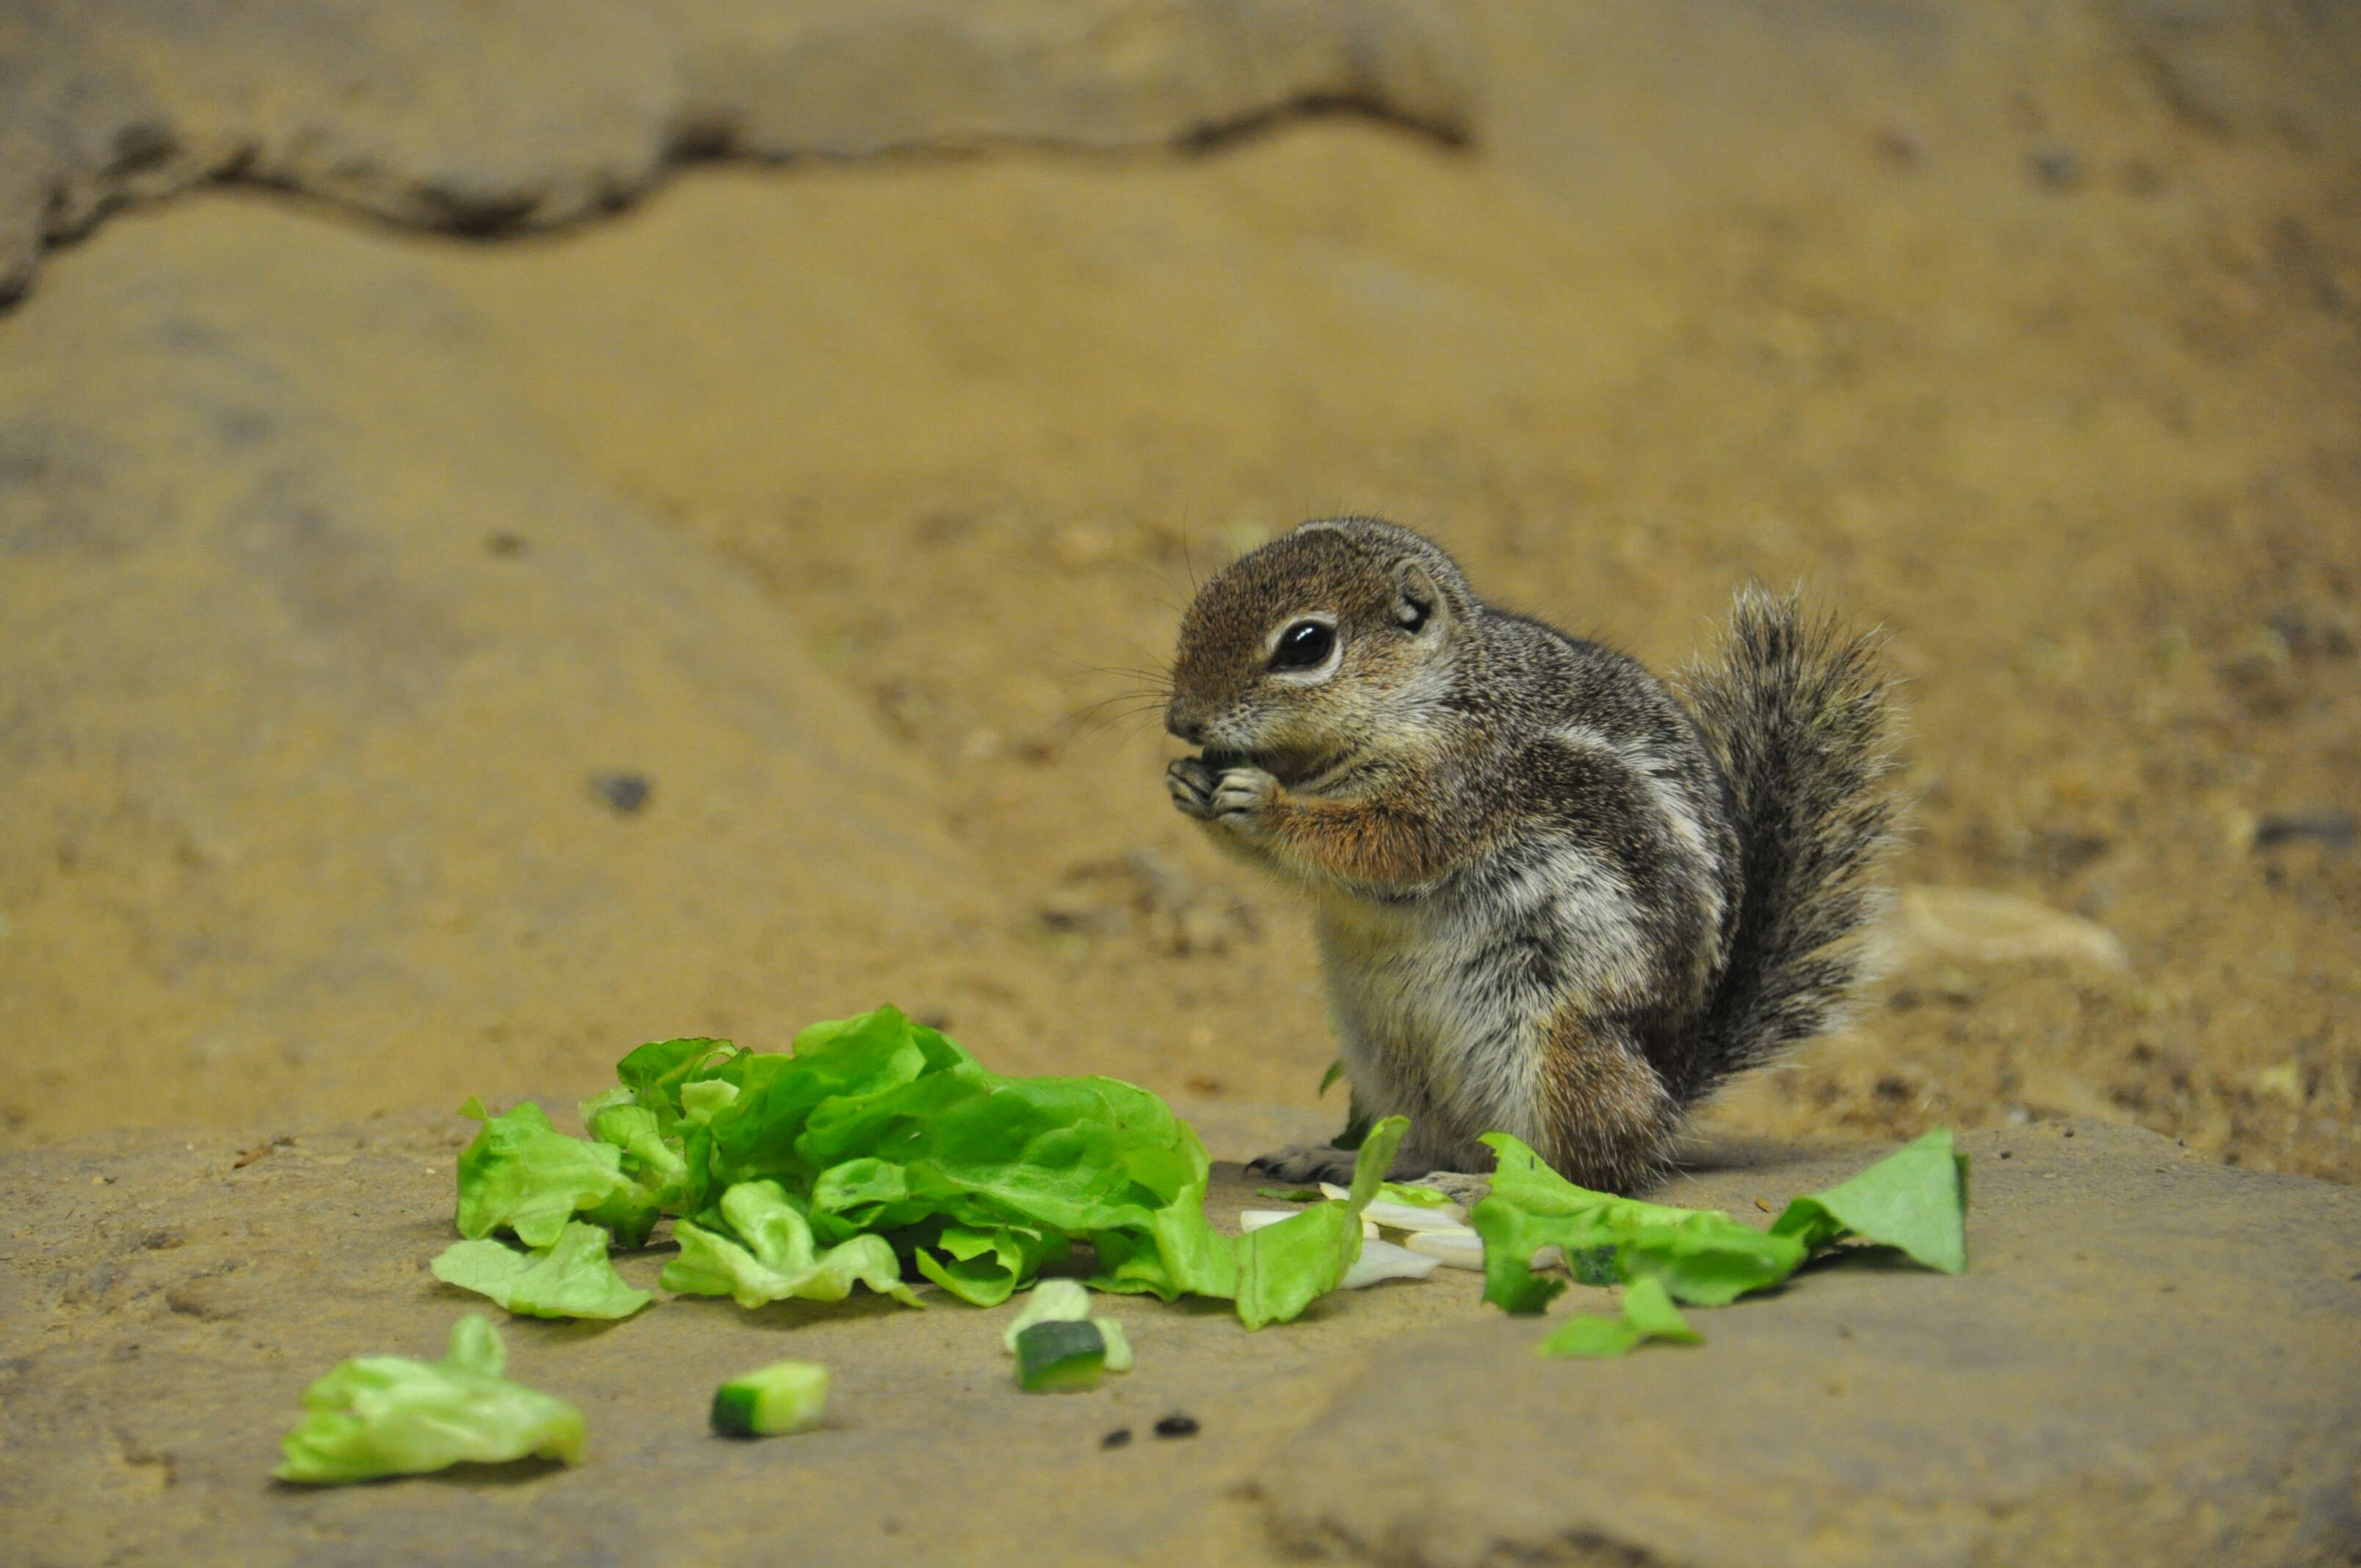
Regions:
<instances>
[{"instance_id":1,"label":"large heap of bright green lettuce left of the squirrel","mask_svg":"<svg viewBox=\"0 0 2361 1568\"><path fill-rule=\"evenodd\" d=\"M999 1077L890 1006L812 1025L791 1056L656 1041L616 1077L581 1105L590 1138L531 1105L484 1117L460 1157L460 1235L550 1247L590 1223L635 1247L671 1214L682 1252L663 1285L756 1304L923 1275L994 1306L1088 1244L1098 1289L1237 1299L1261 1325L1343 1278L1360 1230L1339 1211L1384 1176L1284 1235L1225 1237L1204 1214L1211 1159L1164 1100Z\"/></svg>"}]
</instances>

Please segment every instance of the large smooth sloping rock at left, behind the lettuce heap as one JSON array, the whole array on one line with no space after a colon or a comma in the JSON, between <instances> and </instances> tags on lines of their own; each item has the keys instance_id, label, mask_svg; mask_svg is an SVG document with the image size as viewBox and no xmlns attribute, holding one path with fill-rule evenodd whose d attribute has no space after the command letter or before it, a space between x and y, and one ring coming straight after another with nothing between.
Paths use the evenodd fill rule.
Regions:
<instances>
[{"instance_id":1,"label":"large smooth sloping rock at left, behind the lettuce heap","mask_svg":"<svg viewBox=\"0 0 2361 1568\"><path fill-rule=\"evenodd\" d=\"M21 1100L453 1105L722 994L923 989L987 914L909 760L746 574L567 470L416 257L338 239L125 255L9 324Z\"/></svg>"}]
</instances>

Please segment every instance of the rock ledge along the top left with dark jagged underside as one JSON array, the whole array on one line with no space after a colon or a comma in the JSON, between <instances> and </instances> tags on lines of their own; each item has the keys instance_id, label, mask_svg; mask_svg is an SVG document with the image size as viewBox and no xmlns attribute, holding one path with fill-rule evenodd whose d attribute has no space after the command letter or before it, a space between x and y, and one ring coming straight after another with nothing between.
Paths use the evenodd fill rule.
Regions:
<instances>
[{"instance_id":1,"label":"rock ledge along the top left with dark jagged underside","mask_svg":"<svg viewBox=\"0 0 2361 1568\"><path fill-rule=\"evenodd\" d=\"M0 17L0 295L203 179L489 234L678 158L1147 146L1306 102L1461 135L1464 54L1424 0L33 0Z\"/></svg>"}]
</instances>

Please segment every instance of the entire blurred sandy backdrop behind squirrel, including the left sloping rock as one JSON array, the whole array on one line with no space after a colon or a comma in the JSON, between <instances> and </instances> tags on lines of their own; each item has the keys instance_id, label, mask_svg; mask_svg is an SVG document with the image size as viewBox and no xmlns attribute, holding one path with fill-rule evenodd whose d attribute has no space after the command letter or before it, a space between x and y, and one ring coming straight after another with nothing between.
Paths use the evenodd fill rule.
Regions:
<instances>
[{"instance_id":1,"label":"entire blurred sandy backdrop behind squirrel, including the left sloping rock","mask_svg":"<svg viewBox=\"0 0 2361 1568\"><path fill-rule=\"evenodd\" d=\"M1055 14L985 9L985 54ZM132 203L0 316L0 1138L588 1093L888 999L1306 1105L1306 923L1169 810L1124 671L1374 510L1660 666L1747 574L1884 621L1901 876L2120 942L1905 933L1724 1122L2361 1178L2352 14L1284 9L1077 7L1039 123L758 80L753 7L321 24L286 92L135 5L0 28L0 142L80 170L19 208ZM1320 47L1221 76L1228 12ZM694 28L704 118L581 90Z\"/></svg>"}]
</instances>

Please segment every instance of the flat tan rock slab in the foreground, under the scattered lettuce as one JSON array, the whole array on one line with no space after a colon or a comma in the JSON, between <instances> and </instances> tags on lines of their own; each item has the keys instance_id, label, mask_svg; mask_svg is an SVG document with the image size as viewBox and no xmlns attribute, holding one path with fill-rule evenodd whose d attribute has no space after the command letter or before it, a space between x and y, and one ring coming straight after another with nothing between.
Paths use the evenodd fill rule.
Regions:
<instances>
[{"instance_id":1,"label":"flat tan rock slab in the foreground, under the scattered lettuce","mask_svg":"<svg viewBox=\"0 0 2361 1568\"><path fill-rule=\"evenodd\" d=\"M1223 1155L1280 1122L1199 1117ZM1114 1301L1138 1370L1025 1396L999 1311L663 1299L611 1327L501 1322L510 1372L588 1415L581 1469L274 1485L312 1377L434 1355L475 1301L425 1273L463 1133L382 1117L260 1155L165 1133L0 1155L17 1561L2276 1568L2361 1547L2361 1204L2092 1122L1964 1138L1964 1278L1811 1270L1693 1313L1698 1348L1539 1363L1539 1320L1443 1270L1261 1334ZM1872 1155L1728 1145L1665 1197L1759 1214ZM1214 1211L1249 1202L1223 1167ZM829 1365L826 1426L708 1436L713 1384L781 1355ZM1150 1436L1176 1410L1199 1436Z\"/></svg>"}]
</instances>

